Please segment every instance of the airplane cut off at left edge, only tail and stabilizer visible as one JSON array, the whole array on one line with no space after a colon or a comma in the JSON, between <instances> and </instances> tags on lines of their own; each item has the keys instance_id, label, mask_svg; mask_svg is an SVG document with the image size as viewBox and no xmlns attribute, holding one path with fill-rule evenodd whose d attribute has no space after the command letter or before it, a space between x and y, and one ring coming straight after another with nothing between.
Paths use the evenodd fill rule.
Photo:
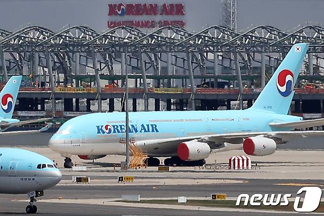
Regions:
<instances>
[{"instance_id":1,"label":"airplane cut off at left edge, only tail and stabilizer visible","mask_svg":"<svg viewBox=\"0 0 324 216\"><path fill-rule=\"evenodd\" d=\"M22 76L12 76L8 82L5 84L0 93L0 134L4 130L28 123L39 123L45 122L49 119L34 119L28 121L20 121L19 119L12 119L13 110L15 108L15 103L20 87ZM40 130L28 130L28 131L12 131L6 132L7 134L12 133L31 133L31 132L42 132L48 129L50 125L43 127Z\"/></svg>"}]
</instances>

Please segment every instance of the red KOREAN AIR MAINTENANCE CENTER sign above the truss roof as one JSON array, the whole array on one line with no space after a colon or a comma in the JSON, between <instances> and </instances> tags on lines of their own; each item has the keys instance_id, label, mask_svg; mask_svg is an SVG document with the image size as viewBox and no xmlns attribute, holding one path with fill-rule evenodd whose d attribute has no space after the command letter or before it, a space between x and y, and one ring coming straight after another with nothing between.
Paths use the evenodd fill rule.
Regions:
<instances>
[{"instance_id":1,"label":"red KOREAN AIR MAINTENANCE CENTER sign above the truss roof","mask_svg":"<svg viewBox=\"0 0 324 216\"><path fill-rule=\"evenodd\" d=\"M108 16L113 18L123 18L122 20L109 20L108 28L115 28L119 26L130 26L135 28L156 28L163 26L178 26L183 28L185 21L183 19L170 20L161 19L160 17L166 16L184 16L184 4L167 4L162 5L144 3L144 4L108 4ZM116 17L117 16L117 17ZM125 20L125 16L154 16L160 19L136 19Z\"/></svg>"}]
</instances>

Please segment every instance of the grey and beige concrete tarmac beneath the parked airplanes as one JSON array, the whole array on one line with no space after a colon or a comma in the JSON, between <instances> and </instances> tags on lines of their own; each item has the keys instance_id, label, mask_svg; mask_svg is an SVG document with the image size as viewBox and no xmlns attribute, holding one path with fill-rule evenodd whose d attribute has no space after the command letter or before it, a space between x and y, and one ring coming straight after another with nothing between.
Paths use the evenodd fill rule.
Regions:
<instances>
[{"instance_id":1,"label":"grey and beige concrete tarmac beneath the parked airplanes","mask_svg":"<svg viewBox=\"0 0 324 216\"><path fill-rule=\"evenodd\" d=\"M4 139L3 139L4 140ZM3 142L2 140L2 142ZM14 146L12 146L14 147ZM252 164L258 164L255 170L194 169L193 167L171 167L171 172L157 172L157 167L148 167L128 172L113 168L125 156L108 155L92 163L72 156L74 163L87 166L86 172L71 172L62 169L63 157L47 147L23 147L58 162L63 173L63 181L48 189L42 200L36 203L40 215L69 216L274 216L300 215L296 213L249 212L249 210L180 210L169 208L151 208L138 206L103 205L99 201L118 200L124 194L140 194L141 198L173 198L178 196L208 199L211 193L226 193L236 198L241 193L291 193L303 186L319 186L324 190L323 151L286 151L278 150L272 155L251 157ZM231 151L211 154L207 163L225 166L232 155L241 155L243 151ZM161 158L163 159L163 158ZM91 178L89 185L72 183L73 175L85 175ZM135 177L133 183L117 183L118 176ZM140 183L140 184L139 184ZM145 184L147 183L147 184ZM164 184L165 183L165 184ZM181 184L180 184L181 183ZM203 183L203 184L202 184ZM62 197L60 202L58 198ZM48 202L50 200L50 202ZM75 201L73 201L75 200ZM81 201L82 200L82 201ZM70 203L65 203L70 202ZM78 203L79 202L79 203ZM0 215L25 214L27 196L0 194ZM310 214L317 215L317 214Z\"/></svg>"}]
</instances>

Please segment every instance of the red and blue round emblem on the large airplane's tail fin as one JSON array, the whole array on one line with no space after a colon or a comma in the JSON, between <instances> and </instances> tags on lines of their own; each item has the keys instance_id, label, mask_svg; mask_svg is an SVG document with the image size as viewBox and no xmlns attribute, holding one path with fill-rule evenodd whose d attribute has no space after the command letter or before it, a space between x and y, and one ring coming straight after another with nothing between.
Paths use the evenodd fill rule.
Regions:
<instances>
[{"instance_id":1,"label":"red and blue round emblem on the large airplane's tail fin","mask_svg":"<svg viewBox=\"0 0 324 216\"><path fill-rule=\"evenodd\" d=\"M277 89L278 92L287 97L292 93L293 88L293 73L288 69L284 69L279 72L277 77Z\"/></svg>"}]
</instances>

